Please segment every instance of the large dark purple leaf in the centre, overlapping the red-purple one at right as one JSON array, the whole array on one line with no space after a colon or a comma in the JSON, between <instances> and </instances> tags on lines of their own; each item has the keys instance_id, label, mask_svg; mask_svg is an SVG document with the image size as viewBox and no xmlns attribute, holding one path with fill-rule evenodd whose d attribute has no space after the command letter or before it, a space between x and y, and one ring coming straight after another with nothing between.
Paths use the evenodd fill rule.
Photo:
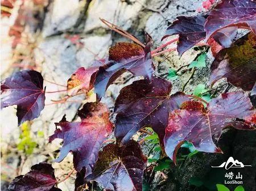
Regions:
<instances>
[{"instance_id":1,"label":"large dark purple leaf in the centre, overlapping the red-purple one at right","mask_svg":"<svg viewBox=\"0 0 256 191\"><path fill-rule=\"evenodd\" d=\"M189 98L178 92L170 96L171 82L154 77L134 81L123 88L115 102L115 137L122 144L143 127L152 127L162 141L172 110L179 109Z\"/></svg>"}]
</instances>

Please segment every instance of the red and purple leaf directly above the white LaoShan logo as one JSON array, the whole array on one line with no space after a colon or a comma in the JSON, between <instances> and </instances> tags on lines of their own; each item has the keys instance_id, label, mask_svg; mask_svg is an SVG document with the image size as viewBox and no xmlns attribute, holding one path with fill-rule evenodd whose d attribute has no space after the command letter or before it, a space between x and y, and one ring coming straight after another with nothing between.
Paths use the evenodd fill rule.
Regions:
<instances>
[{"instance_id":1,"label":"red and purple leaf directly above the white LaoShan logo","mask_svg":"<svg viewBox=\"0 0 256 191\"><path fill-rule=\"evenodd\" d=\"M164 137L166 153L176 163L176 152L184 141L193 143L199 151L222 152L212 138L218 140L221 130L228 126L252 130L255 117L250 99L242 92L221 94L211 99L207 109L200 102L184 102L168 119Z\"/></svg>"}]
</instances>

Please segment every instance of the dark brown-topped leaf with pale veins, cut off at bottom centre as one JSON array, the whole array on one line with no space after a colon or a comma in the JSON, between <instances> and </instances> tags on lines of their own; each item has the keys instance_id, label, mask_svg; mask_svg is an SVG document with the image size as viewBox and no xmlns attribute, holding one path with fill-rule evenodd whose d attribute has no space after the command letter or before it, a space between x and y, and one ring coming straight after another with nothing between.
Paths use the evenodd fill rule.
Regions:
<instances>
[{"instance_id":1,"label":"dark brown-topped leaf with pale veins, cut off at bottom centre","mask_svg":"<svg viewBox=\"0 0 256 191\"><path fill-rule=\"evenodd\" d=\"M86 181L97 181L104 190L142 191L145 168L146 157L134 140L123 147L108 144L100 152L94 172Z\"/></svg>"}]
</instances>

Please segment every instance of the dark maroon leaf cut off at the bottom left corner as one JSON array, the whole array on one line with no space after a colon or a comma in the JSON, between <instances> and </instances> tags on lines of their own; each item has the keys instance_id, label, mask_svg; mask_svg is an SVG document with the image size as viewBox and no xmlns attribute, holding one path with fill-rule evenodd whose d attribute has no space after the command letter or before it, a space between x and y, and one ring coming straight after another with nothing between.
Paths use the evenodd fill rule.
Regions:
<instances>
[{"instance_id":1,"label":"dark maroon leaf cut off at the bottom left corner","mask_svg":"<svg viewBox=\"0 0 256 191\"><path fill-rule=\"evenodd\" d=\"M8 191L57 191L60 189L53 187L56 182L52 165L39 163L33 165L26 175L15 177Z\"/></svg>"}]
</instances>

